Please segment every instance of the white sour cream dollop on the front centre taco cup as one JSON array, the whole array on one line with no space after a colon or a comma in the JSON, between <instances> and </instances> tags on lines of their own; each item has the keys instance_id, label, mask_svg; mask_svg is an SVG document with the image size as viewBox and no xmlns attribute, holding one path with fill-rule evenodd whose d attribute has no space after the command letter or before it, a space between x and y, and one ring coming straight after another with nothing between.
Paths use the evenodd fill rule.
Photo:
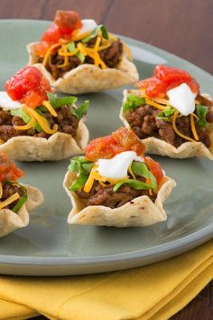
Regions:
<instances>
[{"instance_id":1,"label":"white sour cream dollop on the front centre taco cup","mask_svg":"<svg viewBox=\"0 0 213 320\"><path fill-rule=\"evenodd\" d=\"M110 179L124 179L127 176L129 165L134 160L144 162L144 159L136 155L134 151L122 152L111 159L99 159L97 172Z\"/></svg>"}]
</instances>

